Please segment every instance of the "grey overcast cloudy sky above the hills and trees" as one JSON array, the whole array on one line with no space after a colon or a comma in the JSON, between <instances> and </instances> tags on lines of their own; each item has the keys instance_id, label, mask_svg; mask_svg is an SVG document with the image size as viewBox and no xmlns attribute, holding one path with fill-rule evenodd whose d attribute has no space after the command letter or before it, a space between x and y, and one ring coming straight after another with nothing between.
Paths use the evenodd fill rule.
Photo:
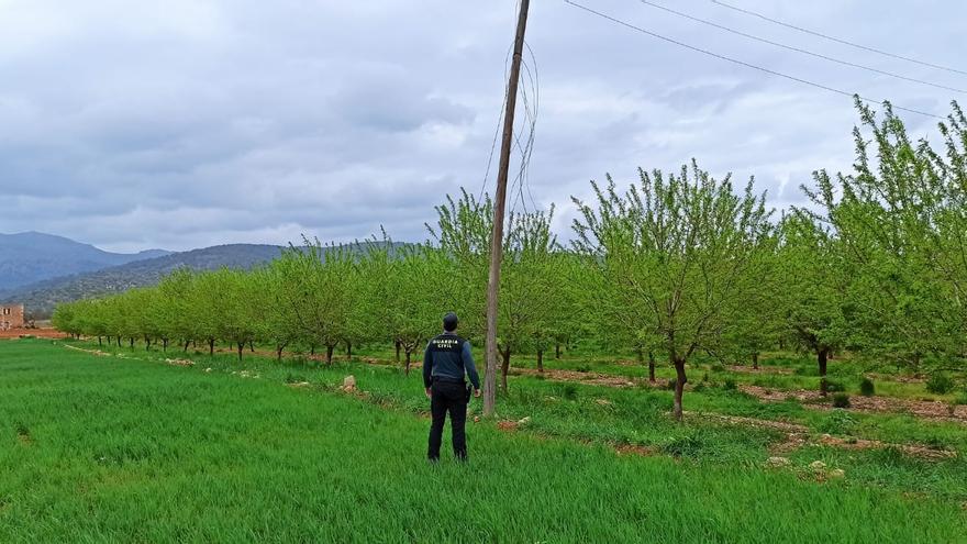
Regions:
<instances>
[{"instance_id":1,"label":"grey overcast cloudy sky above the hills and trees","mask_svg":"<svg viewBox=\"0 0 967 544\"><path fill-rule=\"evenodd\" d=\"M956 91L832 64L637 0L576 0L773 70L946 114ZM953 88L967 75L820 40L709 0L653 0L764 38ZM723 0L724 1L724 0ZM729 0L967 70L957 0ZM527 188L557 203L611 173L754 175L775 207L848 168L851 99L534 0L540 85ZM301 233L425 238L433 207L477 193L502 106L514 0L0 0L0 232L111 251L285 244ZM936 120L904 114L918 134ZM492 187L491 173L489 184ZM531 203L531 196L524 199ZM518 206L521 206L518 203Z\"/></svg>"}]
</instances>

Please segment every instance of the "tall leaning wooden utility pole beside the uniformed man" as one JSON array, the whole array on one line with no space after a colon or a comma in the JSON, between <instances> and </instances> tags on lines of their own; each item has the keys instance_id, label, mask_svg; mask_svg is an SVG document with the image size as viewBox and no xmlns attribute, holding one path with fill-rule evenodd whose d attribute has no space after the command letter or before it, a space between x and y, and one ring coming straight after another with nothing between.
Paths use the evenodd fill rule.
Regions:
<instances>
[{"instance_id":1,"label":"tall leaning wooden utility pole beside the uniformed man","mask_svg":"<svg viewBox=\"0 0 967 544\"><path fill-rule=\"evenodd\" d=\"M507 208L507 178L513 142L513 118L518 104L518 84L524 53L530 0L521 0L514 56L507 84L507 108L503 114L503 141L500 144L500 169L497 173L497 196L493 207L493 233L490 238L490 278L487 281L487 374L484 378L484 415L493 415L497 403L497 299L500 292L500 263L503 259L503 212Z\"/></svg>"}]
</instances>

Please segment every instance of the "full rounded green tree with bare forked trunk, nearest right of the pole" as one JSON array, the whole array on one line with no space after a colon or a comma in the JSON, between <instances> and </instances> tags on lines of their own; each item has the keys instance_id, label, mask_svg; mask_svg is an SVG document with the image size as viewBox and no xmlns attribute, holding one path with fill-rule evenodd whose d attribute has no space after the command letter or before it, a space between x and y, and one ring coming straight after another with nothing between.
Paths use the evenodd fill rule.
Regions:
<instances>
[{"instance_id":1,"label":"full rounded green tree with bare forked trunk, nearest right of the pole","mask_svg":"<svg viewBox=\"0 0 967 544\"><path fill-rule=\"evenodd\" d=\"M574 199L575 247L647 319L642 330L660 338L677 375L675 418L681 420L686 365L698 349L714 349L736 304L756 277L771 229L765 195L749 180L742 195L731 177L715 180L692 162L679 175L638 170L641 182L616 190L592 184L596 202Z\"/></svg>"}]
</instances>

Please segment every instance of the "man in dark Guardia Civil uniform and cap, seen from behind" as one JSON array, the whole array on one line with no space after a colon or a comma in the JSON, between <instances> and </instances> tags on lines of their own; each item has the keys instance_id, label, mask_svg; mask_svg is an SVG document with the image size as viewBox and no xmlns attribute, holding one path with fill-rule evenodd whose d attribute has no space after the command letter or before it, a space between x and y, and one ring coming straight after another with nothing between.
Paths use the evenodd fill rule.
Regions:
<instances>
[{"instance_id":1,"label":"man in dark Guardia Civil uniform and cap, seen from behind","mask_svg":"<svg viewBox=\"0 0 967 544\"><path fill-rule=\"evenodd\" d=\"M456 335L457 314L449 312L443 318L443 334L431 340L423 354L423 386L430 398L430 449L426 456L432 462L440 459L440 442L443 440L443 423L449 411L449 426L453 434L454 456L467 460L467 402L470 390L464 376L474 385L474 396L480 397L480 378L474 366L470 343Z\"/></svg>"}]
</instances>

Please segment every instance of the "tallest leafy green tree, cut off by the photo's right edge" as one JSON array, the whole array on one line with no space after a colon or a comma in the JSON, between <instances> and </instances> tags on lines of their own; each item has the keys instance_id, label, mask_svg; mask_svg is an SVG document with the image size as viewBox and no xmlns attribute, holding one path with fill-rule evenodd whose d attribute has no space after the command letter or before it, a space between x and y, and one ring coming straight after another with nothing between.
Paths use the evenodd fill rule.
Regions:
<instances>
[{"instance_id":1,"label":"tallest leafy green tree, cut off by the photo's right edge","mask_svg":"<svg viewBox=\"0 0 967 544\"><path fill-rule=\"evenodd\" d=\"M871 355L919 367L963 360L967 333L967 120L940 124L943 152L910 138L889 103L857 100L855 169L815 175L807 193L852 266L853 337Z\"/></svg>"}]
</instances>

